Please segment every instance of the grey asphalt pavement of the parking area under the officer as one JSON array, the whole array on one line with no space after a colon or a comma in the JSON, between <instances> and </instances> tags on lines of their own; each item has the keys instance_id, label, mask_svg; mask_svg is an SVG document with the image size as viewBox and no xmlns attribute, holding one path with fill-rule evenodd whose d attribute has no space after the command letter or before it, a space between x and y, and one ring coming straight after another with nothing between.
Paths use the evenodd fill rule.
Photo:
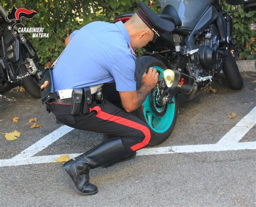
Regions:
<instances>
[{"instance_id":1,"label":"grey asphalt pavement of the parking area under the officer","mask_svg":"<svg viewBox=\"0 0 256 207\"><path fill-rule=\"evenodd\" d=\"M242 78L244 87L233 91L220 74L212 84L215 93L210 91L181 102L173 133L165 142L146 149L151 153L110 168L91 170L90 181L99 189L93 196L80 196L72 189L60 171L62 163L25 165L24 158L9 162L62 125L56 124L55 116L28 93L2 94L0 132L17 130L21 136L7 141L0 134L0 205L255 206L256 127L248 123L241 129L244 135L231 133L235 126L239 128L238 123L248 122L248 114L250 119L256 116L256 72L244 72ZM228 118L231 113L235 118ZM17 123L12 122L15 116L19 118ZM37 118L42 127L31 129L31 118ZM224 137L239 139L221 148L216 143ZM83 153L102 139L101 134L73 129L32 157L37 157L35 163L39 163L41 157L49 155ZM173 153L152 153L172 146L176 146ZM203 148L191 152L194 146Z\"/></svg>"}]
</instances>

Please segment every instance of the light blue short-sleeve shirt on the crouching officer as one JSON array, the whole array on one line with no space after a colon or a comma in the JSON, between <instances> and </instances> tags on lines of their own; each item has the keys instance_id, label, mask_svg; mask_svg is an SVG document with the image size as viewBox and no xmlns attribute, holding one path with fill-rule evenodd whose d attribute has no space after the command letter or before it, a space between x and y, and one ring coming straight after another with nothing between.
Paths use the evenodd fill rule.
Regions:
<instances>
[{"instance_id":1,"label":"light blue short-sleeve shirt on the crouching officer","mask_svg":"<svg viewBox=\"0 0 256 207\"><path fill-rule=\"evenodd\" d=\"M73 31L53 68L56 90L116 82L117 91L135 91L135 56L122 22L92 22Z\"/></svg>"}]
</instances>

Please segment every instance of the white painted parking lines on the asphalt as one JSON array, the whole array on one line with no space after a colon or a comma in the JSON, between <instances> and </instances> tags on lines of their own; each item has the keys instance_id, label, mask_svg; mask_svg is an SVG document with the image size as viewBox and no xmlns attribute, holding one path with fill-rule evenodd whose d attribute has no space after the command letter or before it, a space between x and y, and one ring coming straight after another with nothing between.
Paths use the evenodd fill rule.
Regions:
<instances>
[{"instance_id":1,"label":"white painted parking lines on the asphalt","mask_svg":"<svg viewBox=\"0 0 256 207\"><path fill-rule=\"evenodd\" d=\"M235 125L226 135L224 135L216 144L198 144L187 146L170 146L145 148L138 151L137 155L161 155L173 153L203 153L207 151L230 151L230 150L253 150L256 149L256 142L239 142L242 137L256 124L256 107L252 109L237 125ZM26 164L40 164L56 162L55 159L61 155L35 156L39 151L48 147L51 143L60 139L60 137L71 132L73 128L62 126L41 140L32 144L29 148L22 151L15 157L8 160L0 160L0 167L17 166ZM70 158L79 154L70 154Z\"/></svg>"}]
</instances>

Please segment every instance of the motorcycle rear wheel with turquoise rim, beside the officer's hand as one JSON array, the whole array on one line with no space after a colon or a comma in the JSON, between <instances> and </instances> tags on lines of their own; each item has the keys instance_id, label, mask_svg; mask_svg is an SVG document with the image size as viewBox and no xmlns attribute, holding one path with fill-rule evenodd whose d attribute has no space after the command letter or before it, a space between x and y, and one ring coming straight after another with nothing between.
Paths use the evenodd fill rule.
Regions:
<instances>
[{"instance_id":1,"label":"motorcycle rear wheel with turquoise rim, beside the officer's hand","mask_svg":"<svg viewBox=\"0 0 256 207\"><path fill-rule=\"evenodd\" d=\"M163 77L163 72L167 69L164 63L156 58L150 56L138 58L136 60L135 71L137 89L141 85L142 75L149 67L156 68L156 70L160 73L159 77ZM143 105L134 111L138 118L147 123L150 128L150 146L160 144L171 135L178 115L177 96L173 96L171 103L167 103L163 107L157 107L156 104L154 104L155 100L152 94L153 93L147 95Z\"/></svg>"}]
</instances>

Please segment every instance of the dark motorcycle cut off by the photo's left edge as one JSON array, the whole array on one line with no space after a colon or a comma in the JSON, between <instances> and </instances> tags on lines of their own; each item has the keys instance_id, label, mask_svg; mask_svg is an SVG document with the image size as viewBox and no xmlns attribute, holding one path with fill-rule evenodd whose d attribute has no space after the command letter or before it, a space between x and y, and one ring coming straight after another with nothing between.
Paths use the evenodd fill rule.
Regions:
<instances>
[{"instance_id":1,"label":"dark motorcycle cut off by the photo's left edge","mask_svg":"<svg viewBox=\"0 0 256 207\"><path fill-rule=\"evenodd\" d=\"M0 94L22 85L35 98L40 98L40 72L43 66L35 49L23 34L11 32L12 22L0 5Z\"/></svg>"}]
</instances>

